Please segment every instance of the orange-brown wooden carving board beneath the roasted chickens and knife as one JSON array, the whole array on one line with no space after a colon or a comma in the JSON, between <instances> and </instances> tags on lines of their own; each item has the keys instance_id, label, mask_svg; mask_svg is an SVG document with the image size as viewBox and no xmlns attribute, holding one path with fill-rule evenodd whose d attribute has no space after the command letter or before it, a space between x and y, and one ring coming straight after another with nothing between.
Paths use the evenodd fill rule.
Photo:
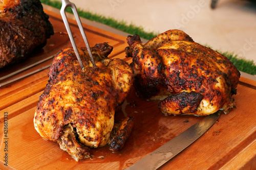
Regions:
<instances>
[{"instance_id":1,"label":"orange-brown wooden carving board beneath the roasted chickens and knife","mask_svg":"<svg viewBox=\"0 0 256 170\"><path fill-rule=\"evenodd\" d=\"M55 35L43 50L33 54L26 62L1 70L0 77L41 58L53 56L62 48L71 47L60 15L45 11L50 15ZM84 46L76 22L72 19L70 22L78 46ZM110 57L130 62L125 59L124 53L126 37L90 25L83 26L91 46L109 42L114 47ZM51 61L16 77L48 65ZM164 116L158 109L158 101L143 101L133 89L115 115L116 120L127 115L135 117L133 132L123 150L111 153L108 146L92 149L92 159L76 162L56 142L42 139L34 129L34 112L39 96L46 87L47 74L48 69L45 69L0 87L0 169L125 169L202 118ZM256 81L241 77L238 94L234 96L237 109L221 114L217 123L202 137L160 169L255 169L255 96ZM8 124L4 124L5 115L8 115ZM8 133L4 133L4 125L8 125ZM6 154L8 166L4 165Z\"/></svg>"}]
</instances>

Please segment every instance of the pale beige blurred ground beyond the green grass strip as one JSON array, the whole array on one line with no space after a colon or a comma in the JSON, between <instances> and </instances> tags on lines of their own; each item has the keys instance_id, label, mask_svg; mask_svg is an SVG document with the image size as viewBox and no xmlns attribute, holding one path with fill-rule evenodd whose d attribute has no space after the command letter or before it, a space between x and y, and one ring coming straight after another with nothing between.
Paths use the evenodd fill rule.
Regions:
<instances>
[{"instance_id":1,"label":"pale beige blurred ground beyond the green grass strip","mask_svg":"<svg viewBox=\"0 0 256 170\"><path fill-rule=\"evenodd\" d=\"M61 0L58 0L61 1ZM179 29L194 41L256 63L256 3L245 0L70 0L78 9L162 33Z\"/></svg>"}]
</instances>

